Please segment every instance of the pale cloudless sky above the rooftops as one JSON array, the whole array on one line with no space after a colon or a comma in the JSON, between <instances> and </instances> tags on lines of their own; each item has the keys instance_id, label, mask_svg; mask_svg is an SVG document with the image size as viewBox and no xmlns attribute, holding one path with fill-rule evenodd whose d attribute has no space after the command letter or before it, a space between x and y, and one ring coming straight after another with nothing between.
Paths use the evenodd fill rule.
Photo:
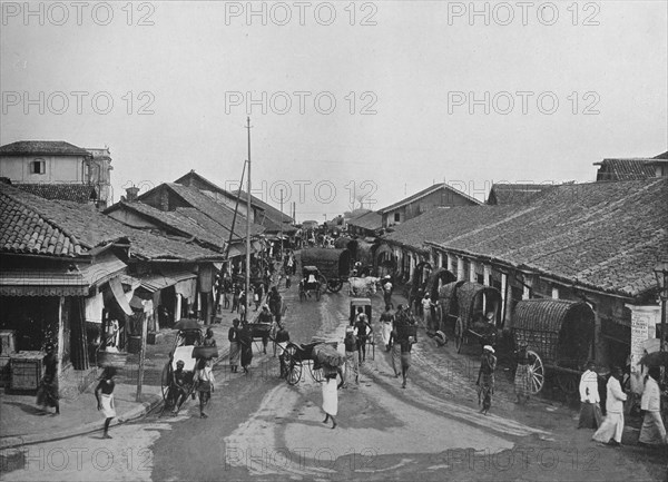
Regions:
<instances>
[{"instance_id":1,"label":"pale cloudless sky above the rooftops","mask_svg":"<svg viewBox=\"0 0 668 482\"><path fill-rule=\"evenodd\" d=\"M0 144L108 146L298 220L668 149L665 1L3 2Z\"/></svg>"}]
</instances>

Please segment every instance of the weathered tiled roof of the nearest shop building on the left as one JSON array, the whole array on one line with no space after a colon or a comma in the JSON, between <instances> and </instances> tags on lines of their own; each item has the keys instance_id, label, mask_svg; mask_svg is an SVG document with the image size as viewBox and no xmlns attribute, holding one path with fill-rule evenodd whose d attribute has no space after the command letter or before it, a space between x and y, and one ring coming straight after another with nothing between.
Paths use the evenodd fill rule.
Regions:
<instances>
[{"instance_id":1,"label":"weathered tiled roof of the nearest shop building on the left","mask_svg":"<svg viewBox=\"0 0 668 482\"><path fill-rule=\"evenodd\" d=\"M129 239L131 256L141 259L219 258L183 238L134 229L92 206L49 200L0 184L0 252L52 256L86 255L96 246Z\"/></svg>"}]
</instances>

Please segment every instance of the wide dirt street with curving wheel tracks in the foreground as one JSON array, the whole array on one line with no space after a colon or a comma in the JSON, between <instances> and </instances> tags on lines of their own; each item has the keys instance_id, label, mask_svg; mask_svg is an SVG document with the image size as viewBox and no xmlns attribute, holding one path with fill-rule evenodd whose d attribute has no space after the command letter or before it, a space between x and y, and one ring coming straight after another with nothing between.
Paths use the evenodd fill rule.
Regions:
<instances>
[{"instance_id":1,"label":"wide dirt street with curving wheel tracks in the foreground","mask_svg":"<svg viewBox=\"0 0 668 482\"><path fill-rule=\"evenodd\" d=\"M328 294L303 303L285 294L291 338L343 338L348 296ZM382 298L373 298L377 328ZM377 335L377 329L375 335ZM636 445L592 442L577 430L572 409L547 400L525 406L499 374L492 411L478 413L478 347L458 355L420 334L404 390L389 354L376 345L361 384L338 392L338 426L322 423L320 385L305 367L288 386L271 350L249 375L220 365L209 417L189 401L178 416L151 414L112 431L23 447L26 468L3 480L664 480L664 454ZM374 358L374 360L372 360ZM55 470L56 468L59 470Z\"/></svg>"}]
</instances>

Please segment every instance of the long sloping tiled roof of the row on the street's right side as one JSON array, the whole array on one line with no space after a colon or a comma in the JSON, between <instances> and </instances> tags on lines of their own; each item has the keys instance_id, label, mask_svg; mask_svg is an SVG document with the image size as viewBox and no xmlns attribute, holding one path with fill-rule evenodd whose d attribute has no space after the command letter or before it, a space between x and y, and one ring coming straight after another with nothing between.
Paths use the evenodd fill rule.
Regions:
<instances>
[{"instance_id":1,"label":"long sloping tiled roof of the row on the street's right side","mask_svg":"<svg viewBox=\"0 0 668 482\"><path fill-rule=\"evenodd\" d=\"M593 289L652 289L668 257L668 179L556 186L515 206L438 208L385 238L529 268Z\"/></svg>"}]
</instances>

